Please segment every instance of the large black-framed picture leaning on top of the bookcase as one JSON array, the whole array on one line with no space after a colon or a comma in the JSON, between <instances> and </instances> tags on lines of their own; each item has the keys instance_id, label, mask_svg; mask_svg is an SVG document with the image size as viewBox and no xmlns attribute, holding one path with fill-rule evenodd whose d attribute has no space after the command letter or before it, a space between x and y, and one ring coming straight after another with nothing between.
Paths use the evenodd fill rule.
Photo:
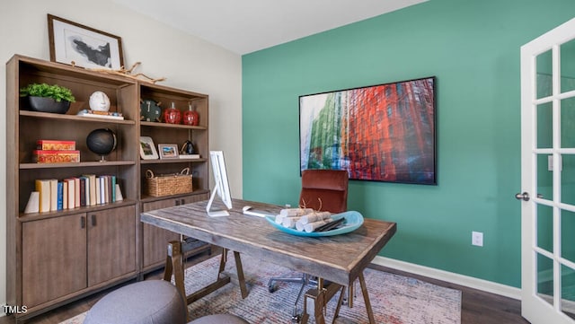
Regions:
<instances>
[{"instance_id":1,"label":"large black-framed picture leaning on top of the bookcase","mask_svg":"<svg viewBox=\"0 0 575 324\"><path fill-rule=\"evenodd\" d=\"M105 31L48 14L50 61L93 69L124 66L122 41Z\"/></svg>"}]
</instances>

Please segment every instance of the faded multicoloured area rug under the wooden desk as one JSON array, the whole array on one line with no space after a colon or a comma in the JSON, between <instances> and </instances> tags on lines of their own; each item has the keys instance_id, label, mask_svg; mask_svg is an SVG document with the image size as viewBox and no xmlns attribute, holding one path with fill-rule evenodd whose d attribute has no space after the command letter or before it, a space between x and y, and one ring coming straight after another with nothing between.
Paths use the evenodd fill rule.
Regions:
<instances>
[{"instance_id":1,"label":"faded multicoloured area rug under the wooden desk","mask_svg":"<svg viewBox=\"0 0 575 324\"><path fill-rule=\"evenodd\" d=\"M290 323L291 314L299 285L279 283L274 293L268 291L268 280L272 276L300 276L286 267L267 263L259 258L242 256L243 272L249 291L242 299L234 258L228 258L226 274L232 283L190 304L193 319L214 313L231 313L243 317L252 324ZM207 285L217 276L219 258L210 258L186 270L186 291L192 292ZM406 276L397 276L367 268L364 273L369 299L377 324L459 324L461 323L461 292L431 285ZM356 293L352 308L342 306L338 324L367 323L367 313L356 282ZM326 320L331 322L338 299L336 294L328 304ZM303 299L303 298L302 298ZM299 311L302 309L299 304ZM66 320L61 324L81 324L85 314ZM314 319L310 318L310 323Z\"/></svg>"}]
</instances>

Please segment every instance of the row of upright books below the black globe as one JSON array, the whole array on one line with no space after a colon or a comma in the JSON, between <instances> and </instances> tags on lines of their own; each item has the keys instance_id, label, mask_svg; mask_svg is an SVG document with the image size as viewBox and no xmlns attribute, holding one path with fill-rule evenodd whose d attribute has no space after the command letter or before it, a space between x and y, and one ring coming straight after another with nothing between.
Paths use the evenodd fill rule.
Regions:
<instances>
[{"instance_id":1,"label":"row of upright books below the black globe","mask_svg":"<svg viewBox=\"0 0 575 324\"><path fill-rule=\"evenodd\" d=\"M24 213L55 212L82 206L96 206L123 200L116 176L85 174L64 180L36 180L36 192ZM38 197L38 204L35 200Z\"/></svg>"}]
</instances>

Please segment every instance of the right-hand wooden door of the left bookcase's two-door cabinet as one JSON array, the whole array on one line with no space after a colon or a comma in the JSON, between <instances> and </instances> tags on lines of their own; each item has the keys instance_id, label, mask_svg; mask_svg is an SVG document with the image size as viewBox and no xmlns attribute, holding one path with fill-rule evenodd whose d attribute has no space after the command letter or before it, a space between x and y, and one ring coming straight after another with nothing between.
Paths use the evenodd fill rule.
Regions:
<instances>
[{"instance_id":1,"label":"right-hand wooden door of the left bookcase's two-door cabinet","mask_svg":"<svg viewBox=\"0 0 575 324\"><path fill-rule=\"evenodd\" d=\"M87 214L88 286L136 271L136 207Z\"/></svg>"}]
</instances>

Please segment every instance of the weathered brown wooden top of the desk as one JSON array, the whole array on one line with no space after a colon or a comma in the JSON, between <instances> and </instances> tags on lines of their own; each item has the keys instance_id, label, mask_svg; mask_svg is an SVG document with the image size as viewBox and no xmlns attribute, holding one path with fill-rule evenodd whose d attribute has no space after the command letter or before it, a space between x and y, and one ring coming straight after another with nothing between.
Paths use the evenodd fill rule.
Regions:
<instances>
[{"instance_id":1,"label":"weathered brown wooden top of the desk","mask_svg":"<svg viewBox=\"0 0 575 324\"><path fill-rule=\"evenodd\" d=\"M279 214L281 206L234 199L229 216L209 217L208 201L142 213L141 221L266 261L349 285L383 249L395 223L364 219L358 230L326 237L301 237L281 232L265 219L243 215L243 206ZM214 208L223 205L214 203Z\"/></svg>"}]
</instances>

